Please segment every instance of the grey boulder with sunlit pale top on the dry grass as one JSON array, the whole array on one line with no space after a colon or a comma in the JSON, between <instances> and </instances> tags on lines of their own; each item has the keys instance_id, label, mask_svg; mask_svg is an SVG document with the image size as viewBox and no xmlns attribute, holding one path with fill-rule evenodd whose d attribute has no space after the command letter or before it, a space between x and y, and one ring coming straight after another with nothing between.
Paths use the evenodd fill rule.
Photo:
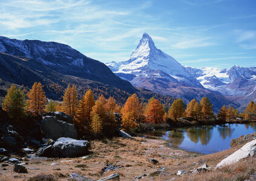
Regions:
<instances>
[{"instance_id":1,"label":"grey boulder with sunlit pale top on the dry grass","mask_svg":"<svg viewBox=\"0 0 256 181\"><path fill-rule=\"evenodd\" d=\"M59 138L53 144L52 150L57 157L77 157L88 154L89 143L87 140L72 138Z\"/></svg>"}]
</instances>

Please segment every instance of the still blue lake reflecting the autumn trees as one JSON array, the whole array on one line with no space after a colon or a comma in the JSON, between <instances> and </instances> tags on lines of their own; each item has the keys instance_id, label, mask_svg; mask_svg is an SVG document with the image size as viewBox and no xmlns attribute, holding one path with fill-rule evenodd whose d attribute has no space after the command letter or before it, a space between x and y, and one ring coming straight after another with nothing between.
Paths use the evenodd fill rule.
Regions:
<instances>
[{"instance_id":1,"label":"still blue lake reflecting the autumn trees","mask_svg":"<svg viewBox=\"0 0 256 181\"><path fill-rule=\"evenodd\" d=\"M162 133L172 147L211 154L229 149L232 139L256 132L256 123L203 125Z\"/></svg>"}]
</instances>

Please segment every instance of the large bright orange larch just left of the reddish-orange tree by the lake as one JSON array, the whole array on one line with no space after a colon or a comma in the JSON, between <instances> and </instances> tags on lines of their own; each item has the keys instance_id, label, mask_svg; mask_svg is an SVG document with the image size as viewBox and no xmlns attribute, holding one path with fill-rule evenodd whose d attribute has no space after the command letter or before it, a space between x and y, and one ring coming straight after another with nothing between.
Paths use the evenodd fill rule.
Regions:
<instances>
[{"instance_id":1,"label":"large bright orange larch just left of the reddish-orange tree by the lake","mask_svg":"<svg viewBox=\"0 0 256 181\"><path fill-rule=\"evenodd\" d=\"M122 126L127 132L137 127L136 121L142 116L142 104L136 94L131 95L125 102L122 110Z\"/></svg>"}]
</instances>

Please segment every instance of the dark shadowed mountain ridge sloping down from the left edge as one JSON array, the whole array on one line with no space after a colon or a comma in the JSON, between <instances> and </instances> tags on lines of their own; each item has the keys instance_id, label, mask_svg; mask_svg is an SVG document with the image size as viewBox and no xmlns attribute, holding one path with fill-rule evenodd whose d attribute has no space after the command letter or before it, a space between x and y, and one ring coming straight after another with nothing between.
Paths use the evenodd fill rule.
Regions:
<instances>
[{"instance_id":1,"label":"dark shadowed mountain ridge sloping down from the left edge","mask_svg":"<svg viewBox=\"0 0 256 181\"><path fill-rule=\"evenodd\" d=\"M68 83L76 84L80 90L91 88L97 95L112 96L119 103L134 93L143 101L153 96L165 103L174 100L171 96L137 89L113 74L105 64L56 42L0 36L0 78L0 97L4 97L11 83L31 88L35 81L40 81L45 85L47 97L54 100L62 97Z\"/></svg>"}]
</instances>

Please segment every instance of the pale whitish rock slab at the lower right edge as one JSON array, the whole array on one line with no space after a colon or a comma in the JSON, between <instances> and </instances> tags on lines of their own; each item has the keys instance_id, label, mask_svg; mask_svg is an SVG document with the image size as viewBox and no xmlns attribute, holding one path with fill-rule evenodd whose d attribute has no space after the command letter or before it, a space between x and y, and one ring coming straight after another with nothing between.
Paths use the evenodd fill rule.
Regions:
<instances>
[{"instance_id":1,"label":"pale whitish rock slab at the lower right edge","mask_svg":"<svg viewBox=\"0 0 256 181\"><path fill-rule=\"evenodd\" d=\"M243 147L235 151L235 153L223 159L220 163L218 163L216 168L220 168L225 165L235 164L236 162L238 162L239 160L245 157L254 156L255 153L256 153L256 139L243 145Z\"/></svg>"}]
</instances>

